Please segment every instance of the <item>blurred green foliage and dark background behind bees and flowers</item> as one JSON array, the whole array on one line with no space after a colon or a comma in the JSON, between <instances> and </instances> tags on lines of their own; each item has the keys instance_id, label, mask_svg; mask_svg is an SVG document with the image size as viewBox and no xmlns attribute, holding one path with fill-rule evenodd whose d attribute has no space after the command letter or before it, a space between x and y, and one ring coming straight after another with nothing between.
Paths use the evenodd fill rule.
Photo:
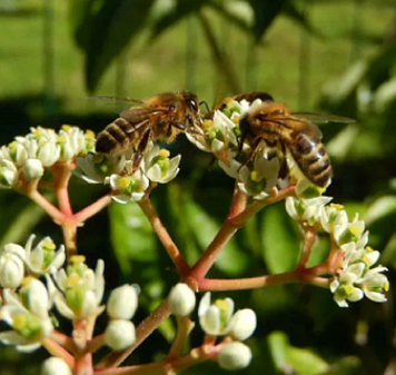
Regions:
<instances>
[{"instance_id":1,"label":"blurred green foliage and dark background behind bees and flowers","mask_svg":"<svg viewBox=\"0 0 396 375\"><path fill-rule=\"evenodd\" d=\"M7 8L11 3L14 10ZM383 251L382 264L395 283L395 1L3 0L0 10L0 32L7 36L0 41L1 144L38 124L100 130L117 108L85 100L93 89L133 98L190 89L209 103L259 89L295 109L356 118L355 125L323 128L335 166L328 194L366 219L370 245ZM43 29L46 19L52 28ZM46 81L48 65L53 77ZM154 191L154 204L192 264L225 218L232 186L181 137L169 147L182 154L180 176ZM103 194L78 180L70 193L76 209ZM61 243L57 226L26 198L0 191L0 205L1 244L23 243L31 231ZM112 205L80 228L78 240L91 265L106 259L109 288L140 285L136 323L178 279L136 205ZM210 276L290 269L299 245L284 206L269 207L235 236ZM311 261L319 263L327 246L320 238ZM385 305L360 302L348 309L339 309L328 290L303 285L224 295L258 314L249 341L254 362L242 374L394 372L393 293ZM172 333L168 322L129 362L165 355ZM195 329L191 344L200 338ZM44 355L1 347L0 375L36 374ZM188 374L202 371L222 374L216 364Z\"/></svg>"}]
</instances>

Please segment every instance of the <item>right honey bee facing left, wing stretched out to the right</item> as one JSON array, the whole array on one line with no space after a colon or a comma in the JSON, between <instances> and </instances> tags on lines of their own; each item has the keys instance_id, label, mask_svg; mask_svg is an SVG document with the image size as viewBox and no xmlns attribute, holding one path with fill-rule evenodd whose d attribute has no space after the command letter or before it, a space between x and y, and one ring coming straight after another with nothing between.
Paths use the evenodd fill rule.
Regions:
<instances>
[{"instance_id":1,"label":"right honey bee facing left, wing stretched out to the right","mask_svg":"<svg viewBox=\"0 0 396 375\"><path fill-rule=\"evenodd\" d=\"M269 99L240 119L240 149L246 139L253 150L251 160L265 145L280 147L284 152L287 147L301 172L313 184L327 187L333 168L321 142L321 131L315 124L330 121L354 122L340 116L290 112L286 105Z\"/></svg>"}]
</instances>

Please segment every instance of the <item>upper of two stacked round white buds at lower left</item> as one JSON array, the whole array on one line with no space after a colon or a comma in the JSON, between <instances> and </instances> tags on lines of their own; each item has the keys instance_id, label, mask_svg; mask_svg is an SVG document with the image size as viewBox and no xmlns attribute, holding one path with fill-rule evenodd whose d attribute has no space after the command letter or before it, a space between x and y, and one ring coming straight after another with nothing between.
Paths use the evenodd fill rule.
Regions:
<instances>
[{"instance_id":1,"label":"upper of two stacked round white buds at lower left","mask_svg":"<svg viewBox=\"0 0 396 375\"><path fill-rule=\"evenodd\" d=\"M112 319L129 320L138 307L138 293L135 287L123 285L111 292L107 302L107 314Z\"/></svg>"}]
</instances>

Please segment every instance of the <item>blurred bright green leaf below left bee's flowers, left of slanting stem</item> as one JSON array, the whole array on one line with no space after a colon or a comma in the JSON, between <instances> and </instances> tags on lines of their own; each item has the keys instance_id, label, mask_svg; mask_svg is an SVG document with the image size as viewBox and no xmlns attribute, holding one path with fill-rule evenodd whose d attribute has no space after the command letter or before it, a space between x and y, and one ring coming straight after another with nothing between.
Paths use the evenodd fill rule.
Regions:
<instances>
[{"instance_id":1,"label":"blurred bright green leaf below left bee's flowers, left of slanting stem","mask_svg":"<svg viewBox=\"0 0 396 375\"><path fill-rule=\"evenodd\" d=\"M150 263L158 259L154 229L136 203L113 204L109 208L111 241L121 270L130 275L132 260Z\"/></svg>"}]
</instances>

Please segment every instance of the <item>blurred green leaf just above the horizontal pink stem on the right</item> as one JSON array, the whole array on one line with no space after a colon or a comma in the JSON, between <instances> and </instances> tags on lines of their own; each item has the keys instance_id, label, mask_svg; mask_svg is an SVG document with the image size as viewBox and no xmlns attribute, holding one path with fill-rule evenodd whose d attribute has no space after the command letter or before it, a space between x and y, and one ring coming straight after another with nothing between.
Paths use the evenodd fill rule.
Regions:
<instances>
[{"instance_id":1,"label":"blurred green leaf just above the horizontal pink stem on the right","mask_svg":"<svg viewBox=\"0 0 396 375\"><path fill-rule=\"evenodd\" d=\"M300 254L299 238L284 205L265 208L261 233L263 256L269 272L277 274L293 269Z\"/></svg>"}]
</instances>

